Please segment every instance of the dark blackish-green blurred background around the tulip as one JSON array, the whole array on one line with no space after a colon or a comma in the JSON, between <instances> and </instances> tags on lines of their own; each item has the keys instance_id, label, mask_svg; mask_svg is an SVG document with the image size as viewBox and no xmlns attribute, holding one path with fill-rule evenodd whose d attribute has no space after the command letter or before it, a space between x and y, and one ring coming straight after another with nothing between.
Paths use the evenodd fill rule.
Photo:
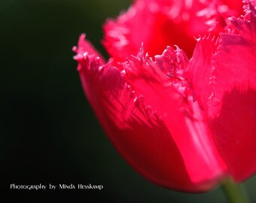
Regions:
<instances>
[{"instance_id":1,"label":"dark blackish-green blurred background around the tulip","mask_svg":"<svg viewBox=\"0 0 256 203\"><path fill-rule=\"evenodd\" d=\"M86 32L104 52L102 23L129 4L1 0L1 202L227 202L219 188L186 194L145 180L114 150L88 105L72 47ZM15 191L11 183L92 183L104 189ZM255 179L246 182L256 202L253 185Z\"/></svg>"}]
</instances>

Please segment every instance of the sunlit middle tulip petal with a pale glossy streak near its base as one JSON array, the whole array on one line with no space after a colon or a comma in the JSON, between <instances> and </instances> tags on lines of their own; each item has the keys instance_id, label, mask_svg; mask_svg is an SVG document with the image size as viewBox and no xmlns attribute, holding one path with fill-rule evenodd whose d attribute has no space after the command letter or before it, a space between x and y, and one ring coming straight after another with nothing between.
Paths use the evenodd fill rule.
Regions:
<instances>
[{"instance_id":1,"label":"sunlit middle tulip petal with a pale glossy streak near its base","mask_svg":"<svg viewBox=\"0 0 256 203\"><path fill-rule=\"evenodd\" d=\"M143 55L130 57L126 80L145 103L151 105L172 135L181 153L187 174L196 185L206 180L216 182L224 175L225 165L215 149L208 124L198 103L193 102L183 71L188 59L182 50L171 47L155 61ZM197 163L197 165L195 165Z\"/></svg>"}]
</instances>

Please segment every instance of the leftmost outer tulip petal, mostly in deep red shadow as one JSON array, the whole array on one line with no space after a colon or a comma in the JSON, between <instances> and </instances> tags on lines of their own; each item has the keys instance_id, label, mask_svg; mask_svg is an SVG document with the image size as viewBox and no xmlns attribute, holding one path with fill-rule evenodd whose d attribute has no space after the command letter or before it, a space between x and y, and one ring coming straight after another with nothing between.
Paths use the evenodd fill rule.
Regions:
<instances>
[{"instance_id":1,"label":"leftmost outer tulip petal, mostly in deep red shadow","mask_svg":"<svg viewBox=\"0 0 256 203\"><path fill-rule=\"evenodd\" d=\"M87 41L83 44L88 45ZM75 59L80 67L78 69L87 98L108 138L137 171L160 186L188 192L203 192L218 183L222 173L220 168L217 170L215 163L200 168L201 161L194 159L198 153L195 155L193 150L190 151L188 140L184 142L188 146L184 150L187 154L190 153L190 165L197 168L197 176L203 176L196 182L195 178L191 178L187 171L190 168L184 165L184 157L168 127L153 108L145 105L144 98L136 96L132 86L126 83L125 71L120 71L122 67L117 67L123 66L122 64L110 60L102 65L95 54L90 55L83 47L78 47L78 50L84 50ZM212 159L208 162L212 162Z\"/></svg>"}]
</instances>

